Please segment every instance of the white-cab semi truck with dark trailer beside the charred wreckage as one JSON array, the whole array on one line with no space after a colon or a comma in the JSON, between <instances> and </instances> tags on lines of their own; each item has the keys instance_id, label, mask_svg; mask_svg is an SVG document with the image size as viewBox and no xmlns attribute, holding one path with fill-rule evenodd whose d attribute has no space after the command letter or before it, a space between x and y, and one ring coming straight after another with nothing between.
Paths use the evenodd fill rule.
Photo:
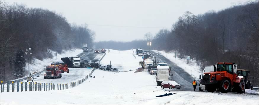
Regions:
<instances>
[{"instance_id":1,"label":"white-cab semi truck with dark trailer beside the charred wreckage","mask_svg":"<svg viewBox=\"0 0 259 105\"><path fill-rule=\"evenodd\" d=\"M78 56L64 57L61 60L67 64L68 67L81 67L81 59Z\"/></svg>"}]
</instances>

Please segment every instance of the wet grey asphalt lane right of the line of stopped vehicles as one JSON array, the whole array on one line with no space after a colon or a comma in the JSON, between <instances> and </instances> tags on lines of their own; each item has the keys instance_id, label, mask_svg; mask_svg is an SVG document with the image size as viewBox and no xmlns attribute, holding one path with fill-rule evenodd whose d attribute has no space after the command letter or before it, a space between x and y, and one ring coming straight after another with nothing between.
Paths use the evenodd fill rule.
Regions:
<instances>
[{"instance_id":1,"label":"wet grey asphalt lane right of the line of stopped vehicles","mask_svg":"<svg viewBox=\"0 0 259 105\"><path fill-rule=\"evenodd\" d=\"M154 51L151 51L152 53L155 53ZM173 73L173 76L171 79L176 81L177 83L179 83L181 85L181 90L182 91L193 91L193 87L192 87L192 81L194 80L193 77L191 77L191 75L189 75L189 73L185 72L184 69L182 69L181 67L178 67L175 63L171 62L169 59L167 59L165 56L159 54L156 55L155 53L155 57L159 58L160 61L164 61L167 62L168 65L170 65L171 68L171 72ZM171 74L170 74L171 75ZM199 81L196 80L197 82L197 87L195 89L195 91L199 91Z\"/></svg>"}]
</instances>

